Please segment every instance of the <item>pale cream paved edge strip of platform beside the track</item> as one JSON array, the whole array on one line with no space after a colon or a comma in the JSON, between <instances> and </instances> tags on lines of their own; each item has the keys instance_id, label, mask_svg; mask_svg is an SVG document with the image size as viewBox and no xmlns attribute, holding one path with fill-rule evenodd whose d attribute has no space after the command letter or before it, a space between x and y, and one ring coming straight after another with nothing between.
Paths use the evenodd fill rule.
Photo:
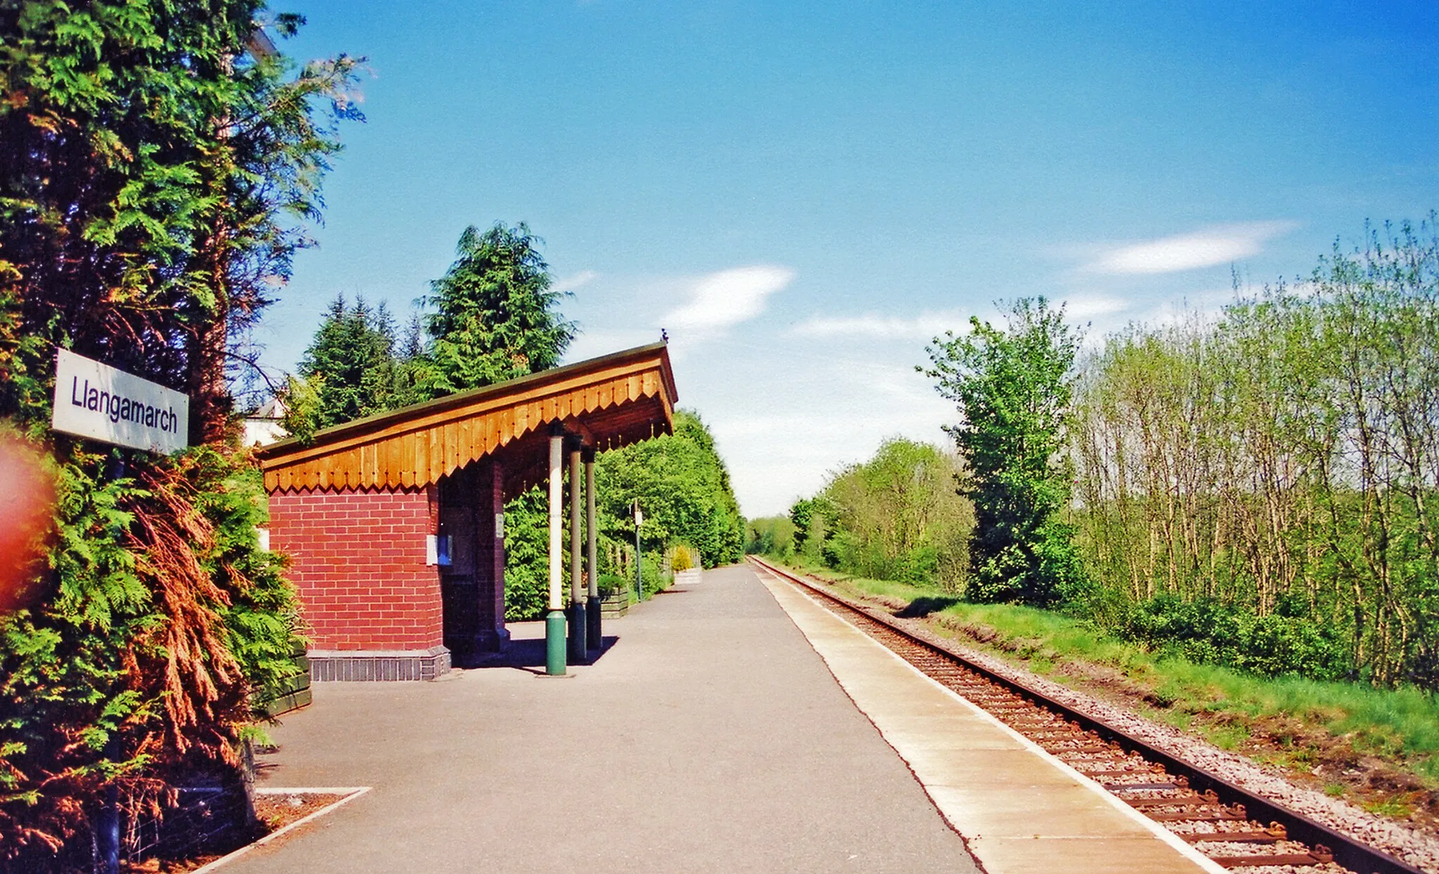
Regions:
<instances>
[{"instance_id":1,"label":"pale cream paved edge strip of platform beside the track","mask_svg":"<svg viewBox=\"0 0 1439 874\"><path fill-rule=\"evenodd\" d=\"M755 573L989 874L1225 873L799 587Z\"/></svg>"}]
</instances>

